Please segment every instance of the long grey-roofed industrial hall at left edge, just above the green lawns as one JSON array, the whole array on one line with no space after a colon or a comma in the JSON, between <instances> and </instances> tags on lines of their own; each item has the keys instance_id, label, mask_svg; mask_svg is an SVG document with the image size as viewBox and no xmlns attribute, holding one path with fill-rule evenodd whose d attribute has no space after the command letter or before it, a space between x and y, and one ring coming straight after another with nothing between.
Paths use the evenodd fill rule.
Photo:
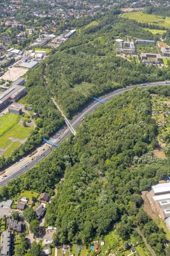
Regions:
<instances>
[{"instance_id":1,"label":"long grey-roofed industrial hall at left edge, just above the green lawns","mask_svg":"<svg viewBox=\"0 0 170 256\"><path fill-rule=\"evenodd\" d=\"M19 100L26 93L24 86L12 85L0 95L0 109L7 107L11 102Z\"/></svg>"}]
</instances>

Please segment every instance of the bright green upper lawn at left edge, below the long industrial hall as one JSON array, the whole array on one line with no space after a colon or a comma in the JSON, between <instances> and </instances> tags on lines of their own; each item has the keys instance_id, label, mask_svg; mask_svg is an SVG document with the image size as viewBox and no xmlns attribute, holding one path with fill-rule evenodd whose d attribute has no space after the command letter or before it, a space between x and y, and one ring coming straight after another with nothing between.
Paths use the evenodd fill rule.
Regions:
<instances>
[{"instance_id":1,"label":"bright green upper lawn at left edge, below the long industrial hall","mask_svg":"<svg viewBox=\"0 0 170 256\"><path fill-rule=\"evenodd\" d=\"M21 116L12 113L7 113L0 117L0 136L10 130L15 124L18 124Z\"/></svg>"}]
</instances>

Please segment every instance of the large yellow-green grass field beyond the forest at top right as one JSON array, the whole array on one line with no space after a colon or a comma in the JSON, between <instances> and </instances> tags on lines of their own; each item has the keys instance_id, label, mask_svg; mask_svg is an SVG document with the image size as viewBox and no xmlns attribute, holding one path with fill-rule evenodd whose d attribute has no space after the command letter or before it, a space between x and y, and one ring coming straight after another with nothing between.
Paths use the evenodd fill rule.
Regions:
<instances>
[{"instance_id":1,"label":"large yellow-green grass field beyond the forest at top right","mask_svg":"<svg viewBox=\"0 0 170 256\"><path fill-rule=\"evenodd\" d=\"M155 25L169 28L170 17L163 19L161 16L147 14L143 12L126 12L121 15L122 18L134 19L140 22L154 23Z\"/></svg>"}]
</instances>

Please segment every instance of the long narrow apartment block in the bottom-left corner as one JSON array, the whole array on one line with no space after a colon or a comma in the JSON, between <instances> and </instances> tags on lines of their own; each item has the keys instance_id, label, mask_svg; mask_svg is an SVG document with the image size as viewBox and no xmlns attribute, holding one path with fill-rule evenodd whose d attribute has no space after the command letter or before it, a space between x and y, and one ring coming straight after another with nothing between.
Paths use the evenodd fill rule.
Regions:
<instances>
[{"instance_id":1,"label":"long narrow apartment block in the bottom-left corner","mask_svg":"<svg viewBox=\"0 0 170 256\"><path fill-rule=\"evenodd\" d=\"M1 256L11 255L11 231L5 230L1 236Z\"/></svg>"}]
</instances>

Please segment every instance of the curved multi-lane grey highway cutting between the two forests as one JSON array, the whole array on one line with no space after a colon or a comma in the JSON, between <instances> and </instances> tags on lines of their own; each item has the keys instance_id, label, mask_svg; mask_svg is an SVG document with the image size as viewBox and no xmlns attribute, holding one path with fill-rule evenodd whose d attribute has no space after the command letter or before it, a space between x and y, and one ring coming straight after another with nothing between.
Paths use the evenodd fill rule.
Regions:
<instances>
[{"instance_id":1,"label":"curved multi-lane grey highway cutting between the two forests","mask_svg":"<svg viewBox=\"0 0 170 256\"><path fill-rule=\"evenodd\" d=\"M155 83L148 83L145 85L139 84L139 85L135 85L138 88L143 88L143 87L149 87L149 86L153 86L153 85L166 85L166 82L168 84L170 84L170 81L165 81L165 82L155 82ZM126 88L122 88L119 90L116 90L114 92L110 92L108 94L103 95L102 97L100 97L99 99L101 100L105 100L105 101L109 101L112 98L116 97L119 94L122 94L123 92L126 91L130 91L134 88L134 86L129 86ZM98 101L93 101L91 102L88 106L86 106L84 109L82 109L77 115L75 115L73 117L73 119L70 121L71 126L75 129L75 127L79 126L81 124L81 122L83 121L83 118L86 115L91 114L92 112L95 111L96 108L98 108L102 103L98 102ZM49 140L53 141L54 143L60 144L62 143L67 137L69 137L69 135L71 134L70 129L64 125L59 131L57 131L53 137L51 137ZM43 147L43 145L41 146ZM15 163L13 166L13 169L15 169L14 171L12 171L9 175L7 175L7 177L5 179L2 179L0 181L0 187L3 187L6 185L6 183L16 177L18 177L19 175L25 173L26 171L28 171L29 169L31 169L33 166L35 166L37 163L39 163L42 159L44 159L46 156L48 156L50 154L50 152L52 150L54 150L55 147L51 146L50 148L48 148L45 151L42 151L43 153L38 155L35 160L31 161L28 163L24 163L23 166L18 167L17 164L19 163ZM21 161L20 161L21 162ZM15 167L16 166L16 167ZM18 168L17 168L18 167Z\"/></svg>"}]
</instances>

